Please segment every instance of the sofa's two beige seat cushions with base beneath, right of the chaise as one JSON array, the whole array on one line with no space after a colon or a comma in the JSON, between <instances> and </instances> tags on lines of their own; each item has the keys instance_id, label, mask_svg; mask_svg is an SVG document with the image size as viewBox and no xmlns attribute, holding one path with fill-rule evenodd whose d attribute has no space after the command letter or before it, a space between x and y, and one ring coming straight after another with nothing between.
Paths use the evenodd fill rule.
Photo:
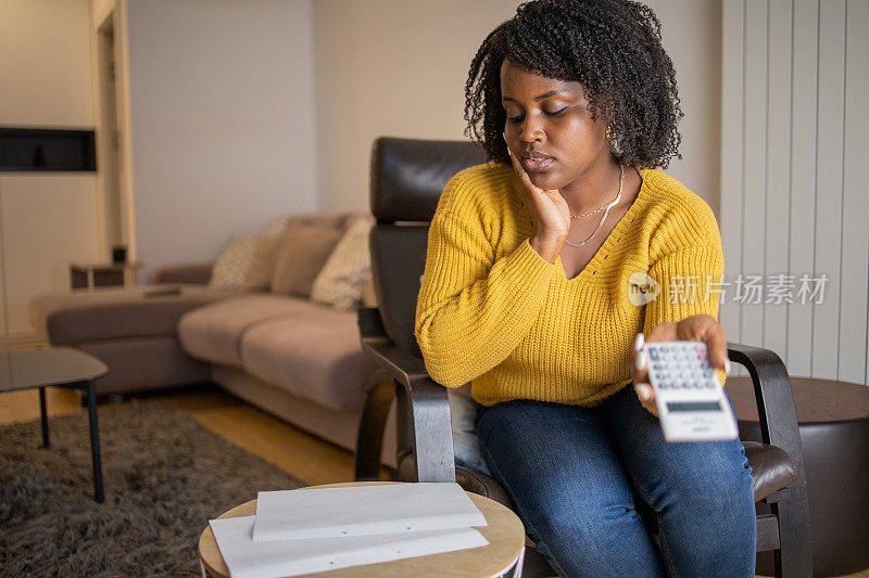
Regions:
<instances>
[{"instance_id":1,"label":"sofa's two beige seat cushions with base beneath, right of the chaise","mask_svg":"<svg viewBox=\"0 0 869 578\"><path fill-rule=\"evenodd\" d=\"M355 311L289 296L238 296L188 311L178 337L227 390L355 449L374 370L360 346Z\"/></svg>"}]
</instances>

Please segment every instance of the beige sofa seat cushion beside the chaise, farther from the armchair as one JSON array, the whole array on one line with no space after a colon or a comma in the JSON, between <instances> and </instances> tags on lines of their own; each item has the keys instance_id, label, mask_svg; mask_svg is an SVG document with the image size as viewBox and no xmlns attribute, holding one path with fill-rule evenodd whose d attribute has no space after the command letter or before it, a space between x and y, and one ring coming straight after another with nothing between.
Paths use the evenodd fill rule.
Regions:
<instances>
[{"instance_id":1,"label":"beige sofa seat cushion beside the chaise, farther from the armchair","mask_svg":"<svg viewBox=\"0 0 869 578\"><path fill-rule=\"evenodd\" d=\"M224 299L182 316L178 339L189 356L238 368L241 367L239 344L244 332L307 305L303 299L270 294Z\"/></svg>"}]
</instances>

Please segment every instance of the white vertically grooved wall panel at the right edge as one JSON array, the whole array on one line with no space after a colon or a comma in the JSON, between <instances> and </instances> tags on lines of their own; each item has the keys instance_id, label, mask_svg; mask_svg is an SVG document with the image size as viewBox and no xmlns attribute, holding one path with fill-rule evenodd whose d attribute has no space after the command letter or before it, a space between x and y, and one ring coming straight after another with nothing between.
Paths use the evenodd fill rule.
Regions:
<instances>
[{"instance_id":1,"label":"white vertically grooved wall panel at the right edge","mask_svg":"<svg viewBox=\"0 0 869 578\"><path fill-rule=\"evenodd\" d=\"M867 0L723 2L720 320L791 375L869 384L868 55Z\"/></svg>"}]
</instances>

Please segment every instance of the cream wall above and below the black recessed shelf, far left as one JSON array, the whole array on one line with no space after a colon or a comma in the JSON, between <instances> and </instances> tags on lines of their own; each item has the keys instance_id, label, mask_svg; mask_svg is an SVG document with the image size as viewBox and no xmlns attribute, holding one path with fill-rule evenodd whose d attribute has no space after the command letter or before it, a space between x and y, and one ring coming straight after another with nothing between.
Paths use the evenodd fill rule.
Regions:
<instances>
[{"instance_id":1,"label":"cream wall above and below the black recessed shelf, far left","mask_svg":"<svg viewBox=\"0 0 869 578\"><path fill-rule=\"evenodd\" d=\"M0 0L0 125L93 128L87 0ZM0 174L0 337L33 335L30 297L104 259L93 172Z\"/></svg>"}]
</instances>

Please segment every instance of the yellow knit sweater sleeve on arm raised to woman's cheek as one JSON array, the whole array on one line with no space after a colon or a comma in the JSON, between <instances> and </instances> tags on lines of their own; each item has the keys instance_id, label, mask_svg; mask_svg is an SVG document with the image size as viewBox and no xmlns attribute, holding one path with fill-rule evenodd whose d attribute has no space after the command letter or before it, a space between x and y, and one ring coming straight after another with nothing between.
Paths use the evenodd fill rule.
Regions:
<instances>
[{"instance_id":1,"label":"yellow knit sweater sleeve on arm raised to woman's cheek","mask_svg":"<svg viewBox=\"0 0 869 578\"><path fill-rule=\"evenodd\" d=\"M416 339L431 377L458 387L501 363L527 335L556 264L525 240L496 258L486 209L451 181L431 221ZM461 198L456 198L461 197Z\"/></svg>"}]
</instances>

